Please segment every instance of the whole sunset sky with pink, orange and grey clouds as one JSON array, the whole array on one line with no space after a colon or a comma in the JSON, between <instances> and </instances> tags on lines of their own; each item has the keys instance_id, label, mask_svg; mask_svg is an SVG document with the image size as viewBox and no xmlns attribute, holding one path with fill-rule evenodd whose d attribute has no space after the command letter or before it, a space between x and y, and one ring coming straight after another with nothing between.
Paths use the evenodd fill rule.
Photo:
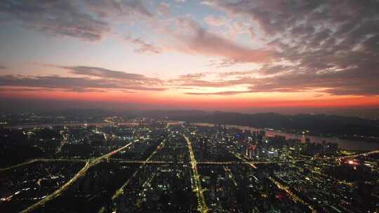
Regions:
<instances>
[{"instance_id":1,"label":"whole sunset sky with pink, orange and grey clouds","mask_svg":"<svg viewBox=\"0 0 379 213\"><path fill-rule=\"evenodd\" d=\"M2 0L1 104L379 107L378 8L373 0Z\"/></svg>"}]
</instances>

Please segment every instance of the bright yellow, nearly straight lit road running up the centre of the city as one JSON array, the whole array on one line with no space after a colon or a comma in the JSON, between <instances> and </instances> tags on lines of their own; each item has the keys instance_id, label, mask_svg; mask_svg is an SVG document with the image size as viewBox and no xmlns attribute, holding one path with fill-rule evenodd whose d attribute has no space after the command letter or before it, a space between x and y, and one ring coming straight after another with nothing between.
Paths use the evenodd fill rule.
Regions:
<instances>
[{"instance_id":1,"label":"bright yellow, nearly straight lit road running up the centre of the city","mask_svg":"<svg viewBox=\"0 0 379 213\"><path fill-rule=\"evenodd\" d=\"M199 172L197 171L197 162L194 157L194 151L192 149L191 142L189 142L189 139L187 136L183 135L185 140L187 141L188 151L189 151L189 158L191 158L191 165L192 165L192 179L194 180L195 187L194 191L197 191L197 198L199 203L199 211L200 212L208 212L208 207L206 206L206 202L204 199L203 191L201 189L201 182L199 178Z\"/></svg>"}]
</instances>

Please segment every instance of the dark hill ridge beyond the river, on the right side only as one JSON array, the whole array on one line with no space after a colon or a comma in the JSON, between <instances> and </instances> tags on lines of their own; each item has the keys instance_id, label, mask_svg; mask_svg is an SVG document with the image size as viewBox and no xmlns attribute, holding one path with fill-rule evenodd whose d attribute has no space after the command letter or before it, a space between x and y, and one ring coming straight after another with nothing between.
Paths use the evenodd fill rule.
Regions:
<instances>
[{"instance_id":1,"label":"dark hill ridge beyond the river, on the right side only","mask_svg":"<svg viewBox=\"0 0 379 213\"><path fill-rule=\"evenodd\" d=\"M366 118L331 116L325 114L283 115L275 113L241 114L233 112L206 111L146 111L141 114L149 118L170 118L172 120L248 125L255 128L272 128L287 132L308 130L311 135L338 137L379 137L379 121Z\"/></svg>"}]
</instances>

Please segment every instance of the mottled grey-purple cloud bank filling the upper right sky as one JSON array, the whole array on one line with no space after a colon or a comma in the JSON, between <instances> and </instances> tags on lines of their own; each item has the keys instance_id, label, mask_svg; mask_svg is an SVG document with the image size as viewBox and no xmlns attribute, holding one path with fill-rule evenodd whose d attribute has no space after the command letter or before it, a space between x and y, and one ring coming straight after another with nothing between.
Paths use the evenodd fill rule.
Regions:
<instances>
[{"instance_id":1,"label":"mottled grey-purple cloud bank filling the upper right sky","mask_svg":"<svg viewBox=\"0 0 379 213\"><path fill-rule=\"evenodd\" d=\"M250 79L252 92L316 88L333 95L379 95L379 1L206 4L258 22L262 39L276 49L272 62L258 71L267 78Z\"/></svg>"}]
</instances>

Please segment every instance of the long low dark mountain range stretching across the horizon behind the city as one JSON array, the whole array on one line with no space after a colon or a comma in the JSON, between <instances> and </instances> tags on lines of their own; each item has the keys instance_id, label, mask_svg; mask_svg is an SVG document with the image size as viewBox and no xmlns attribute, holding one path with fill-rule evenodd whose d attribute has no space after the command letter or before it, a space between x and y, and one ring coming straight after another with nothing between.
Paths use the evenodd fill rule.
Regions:
<instances>
[{"instance_id":1,"label":"long low dark mountain range stretching across the horizon behind the city","mask_svg":"<svg viewBox=\"0 0 379 213\"><path fill-rule=\"evenodd\" d=\"M378 140L379 137L378 120L326 114L284 115L277 113L241 114L201 110L110 111L104 109L65 109L42 114L66 116L66 118L76 118L79 121L86 122L101 122L102 118L107 116L168 118L173 121L191 123L247 125L254 128L272 128L293 133L308 131L308 135L337 136L351 139L367 140L369 139L368 137L377 137L371 139Z\"/></svg>"}]
</instances>

